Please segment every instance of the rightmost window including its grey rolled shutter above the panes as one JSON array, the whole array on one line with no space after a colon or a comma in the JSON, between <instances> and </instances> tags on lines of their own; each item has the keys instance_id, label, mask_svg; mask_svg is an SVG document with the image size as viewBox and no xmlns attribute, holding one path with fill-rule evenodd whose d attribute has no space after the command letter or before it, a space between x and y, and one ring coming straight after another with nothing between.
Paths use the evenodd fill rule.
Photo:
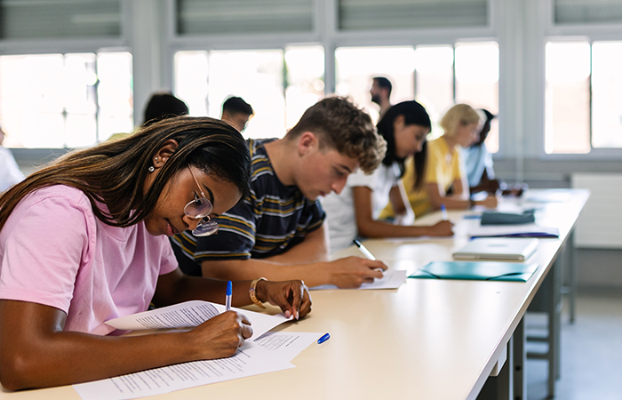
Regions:
<instances>
[{"instance_id":1,"label":"rightmost window including its grey rolled shutter above the panes","mask_svg":"<svg viewBox=\"0 0 622 400\"><path fill-rule=\"evenodd\" d=\"M554 36L545 51L545 152L618 157L622 1L551 3Z\"/></svg>"}]
</instances>

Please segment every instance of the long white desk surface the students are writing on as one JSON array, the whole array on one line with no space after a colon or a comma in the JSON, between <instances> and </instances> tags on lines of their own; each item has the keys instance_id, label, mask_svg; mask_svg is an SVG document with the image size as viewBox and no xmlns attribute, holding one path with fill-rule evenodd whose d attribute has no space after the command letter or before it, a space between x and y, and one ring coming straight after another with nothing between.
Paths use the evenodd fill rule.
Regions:
<instances>
[{"instance_id":1,"label":"long white desk surface the students are writing on","mask_svg":"<svg viewBox=\"0 0 622 400\"><path fill-rule=\"evenodd\" d=\"M280 329L330 332L331 339L294 358L297 368L149 398L474 399L589 196L586 190L571 193L565 203L534 204L543 208L538 224L560 228L560 238L540 240L528 260L539 267L526 283L407 279L397 290L312 292L312 313ZM459 220L462 214L450 212L458 222L453 239L364 244L389 268L410 273L431 260L451 260L451 252L466 243L467 225L478 220ZM419 223L435 220L438 213ZM346 255L361 254L354 247L339 252ZM79 396L63 387L0 393L4 398Z\"/></svg>"}]
</instances>

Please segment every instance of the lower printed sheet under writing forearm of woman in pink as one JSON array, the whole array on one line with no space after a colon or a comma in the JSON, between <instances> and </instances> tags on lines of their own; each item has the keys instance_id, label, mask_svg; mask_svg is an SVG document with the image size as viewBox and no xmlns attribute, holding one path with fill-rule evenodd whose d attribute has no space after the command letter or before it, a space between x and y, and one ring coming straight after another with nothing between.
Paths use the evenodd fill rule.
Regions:
<instances>
[{"instance_id":1,"label":"lower printed sheet under writing forearm of woman in pink","mask_svg":"<svg viewBox=\"0 0 622 400\"><path fill-rule=\"evenodd\" d=\"M124 400L195 388L224 380L295 368L280 356L247 341L235 356L175 364L107 380L74 385L83 400Z\"/></svg>"}]
</instances>

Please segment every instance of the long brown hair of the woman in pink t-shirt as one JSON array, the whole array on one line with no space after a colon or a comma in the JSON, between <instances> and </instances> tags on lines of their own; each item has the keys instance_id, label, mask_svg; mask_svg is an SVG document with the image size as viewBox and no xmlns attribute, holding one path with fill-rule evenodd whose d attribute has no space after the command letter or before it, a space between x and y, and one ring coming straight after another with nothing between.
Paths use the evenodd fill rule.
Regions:
<instances>
[{"instance_id":1,"label":"long brown hair of the woman in pink t-shirt","mask_svg":"<svg viewBox=\"0 0 622 400\"><path fill-rule=\"evenodd\" d=\"M143 194L148 167L167 140L176 140L178 147ZM240 132L218 119L179 116L143 127L124 140L68 153L34 172L0 197L0 229L24 196L52 185L82 190L98 219L129 227L148 218L164 185L188 166L235 184L243 196L248 193L251 156ZM96 202L107 204L109 212L102 212Z\"/></svg>"}]
</instances>

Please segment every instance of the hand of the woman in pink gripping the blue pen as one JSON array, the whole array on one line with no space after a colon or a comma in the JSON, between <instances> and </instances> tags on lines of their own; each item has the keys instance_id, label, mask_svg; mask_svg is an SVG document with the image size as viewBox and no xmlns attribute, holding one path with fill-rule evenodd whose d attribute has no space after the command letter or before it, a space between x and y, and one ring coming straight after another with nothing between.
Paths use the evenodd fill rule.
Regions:
<instances>
[{"instance_id":1,"label":"hand of the woman in pink gripping the blue pen","mask_svg":"<svg viewBox=\"0 0 622 400\"><path fill-rule=\"evenodd\" d=\"M192 338L187 342L196 360L233 356L244 340L252 336L251 322L242 314L227 311L198 325L186 336Z\"/></svg>"}]
</instances>

